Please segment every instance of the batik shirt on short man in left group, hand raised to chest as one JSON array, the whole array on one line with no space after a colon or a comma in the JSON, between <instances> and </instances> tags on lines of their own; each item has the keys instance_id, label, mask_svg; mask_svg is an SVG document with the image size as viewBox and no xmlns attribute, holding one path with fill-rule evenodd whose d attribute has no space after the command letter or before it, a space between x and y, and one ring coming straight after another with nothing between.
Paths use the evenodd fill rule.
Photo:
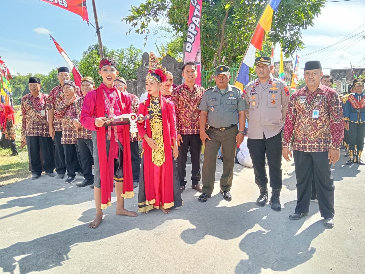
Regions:
<instances>
[{"instance_id":1,"label":"batik shirt on short man in left group, hand raised to chest","mask_svg":"<svg viewBox=\"0 0 365 274\"><path fill-rule=\"evenodd\" d=\"M76 96L76 100L79 98L80 97ZM72 105L74 104L75 102L72 103ZM62 125L61 144L77 144L77 133L75 126L72 124L72 105L68 106L64 101L61 101L54 111L54 117L61 121Z\"/></svg>"}]
</instances>

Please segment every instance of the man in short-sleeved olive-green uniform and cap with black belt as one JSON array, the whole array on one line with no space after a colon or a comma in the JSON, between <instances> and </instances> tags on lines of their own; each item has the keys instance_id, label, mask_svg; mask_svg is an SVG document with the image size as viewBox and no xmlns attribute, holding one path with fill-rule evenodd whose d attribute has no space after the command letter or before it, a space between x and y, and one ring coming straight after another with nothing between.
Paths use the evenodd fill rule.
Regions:
<instances>
[{"instance_id":1,"label":"man in short-sleeved olive-green uniform and cap with black belt","mask_svg":"<svg viewBox=\"0 0 365 274\"><path fill-rule=\"evenodd\" d=\"M223 173L220 177L220 193L225 200L232 200L229 191L233 180L234 158L237 144L242 143L245 134L247 105L241 90L228 84L230 79L229 67L216 67L216 86L205 91L199 105L200 139L205 145L202 170L203 193L198 198L198 201L202 203L206 202L213 192L215 163L221 145L224 161ZM205 131L207 121L209 128Z\"/></svg>"}]
</instances>

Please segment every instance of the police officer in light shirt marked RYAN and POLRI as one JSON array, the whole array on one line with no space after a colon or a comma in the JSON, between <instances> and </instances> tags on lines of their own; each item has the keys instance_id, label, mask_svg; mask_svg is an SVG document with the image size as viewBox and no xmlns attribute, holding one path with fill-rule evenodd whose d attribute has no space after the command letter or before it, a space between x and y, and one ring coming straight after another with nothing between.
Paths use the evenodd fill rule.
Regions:
<instances>
[{"instance_id":1,"label":"police officer in light shirt marked RYAN and POLRI","mask_svg":"<svg viewBox=\"0 0 365 274\"><path fill-rule=\"evenodd\" d=\"M256 204L263 207L268 201L268 177L265 170L265 154L268 158L271 208L281 210L281 131L289 102L289 88L284 81L270 76L270 57L255 59L258 78L248 83L243 91L248 106L246 117L249 122L247 147L250 151L255 173L255 183L260 189Z\"/></svg>"}]
</instances>

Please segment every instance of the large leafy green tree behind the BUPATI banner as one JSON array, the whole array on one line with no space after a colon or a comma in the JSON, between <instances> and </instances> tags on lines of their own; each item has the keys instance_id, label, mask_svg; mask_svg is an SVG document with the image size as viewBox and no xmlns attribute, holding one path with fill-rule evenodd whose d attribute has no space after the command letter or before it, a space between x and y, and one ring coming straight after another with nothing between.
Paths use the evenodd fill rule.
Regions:
<instances>
[{"instance_id":1,"label":"large leafy green tree behind the BUPATI banner","mask_svg":"<svg viewBox=\"0 0 365 274\"><path fill-rule=\"evenodd\" d=\"M169 24L176 36L186 37L189 3L187 0L145 0L131 6L122 21L131 25L130 33L150 35L155 23ZM325 0L281 0L274 13L272 28L264 45L280 43L286 57L304 48L301 31L313 26L313 20L324 7ZM238 64L265 8L265 0L204 0L201 11L201 62L204 67L222 63ZM270 54L264 49L264 54Z\"/></svg>"}]
</instances>

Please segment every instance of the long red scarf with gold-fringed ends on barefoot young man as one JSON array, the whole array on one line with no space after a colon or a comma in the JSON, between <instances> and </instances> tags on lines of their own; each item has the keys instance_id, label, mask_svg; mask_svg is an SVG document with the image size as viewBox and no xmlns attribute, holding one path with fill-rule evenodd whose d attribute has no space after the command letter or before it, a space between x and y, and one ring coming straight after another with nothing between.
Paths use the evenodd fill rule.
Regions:
<instances>
[{"instance_id":1,"label":"long red scarf with gold-fringed ends on barefoot young man","mask_svg":"<svg viewBox=\"0 0 365 274\"><path fill-rule=\"evenodd\" d=\"M96 89L96 114L97 117L105 116L104 107L104 90L99 86ZM122 114L127 114L125 96L116 89L115 91L119 98L119 107ZM122 99L123 98L123 99ZM113 135L110 138L109 157L107 157L106 145L106 127L97 129L97 151L99 154L100 167L100 183L101 183L101 208L105 209L111 205L111 193L113 192L114 180L114 156L115 150L118 149L118 144L115 142ZM129 143L129 125L123 126L123 194L122 197L131 198L134 196L132 167L131 167L131 148ZM107 163L107 164L105 164Z\"/></svg>"}]
</instances>

